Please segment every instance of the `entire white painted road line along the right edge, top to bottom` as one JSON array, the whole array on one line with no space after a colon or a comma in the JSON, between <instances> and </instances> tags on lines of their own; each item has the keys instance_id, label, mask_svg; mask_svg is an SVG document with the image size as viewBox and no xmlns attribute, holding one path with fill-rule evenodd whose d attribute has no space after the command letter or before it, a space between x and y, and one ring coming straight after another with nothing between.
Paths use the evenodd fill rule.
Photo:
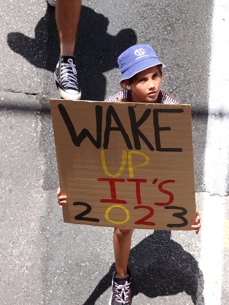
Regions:
<instances>
[{"instance_id":1,"label":"entire white painted road line along the right edge, top to bottom","mask_svg":"<svg viewBox=\"0 0 229 305\"><path fill-rule=\"evenodd\" d=\"M203 201L199 264L204 275L205 305L221 304L225 205L223 196L228 190L229 161L228 28L228 0L215 0L204 173L205 189L209 193L205 193Z\"/></svg>"}]
</instances>

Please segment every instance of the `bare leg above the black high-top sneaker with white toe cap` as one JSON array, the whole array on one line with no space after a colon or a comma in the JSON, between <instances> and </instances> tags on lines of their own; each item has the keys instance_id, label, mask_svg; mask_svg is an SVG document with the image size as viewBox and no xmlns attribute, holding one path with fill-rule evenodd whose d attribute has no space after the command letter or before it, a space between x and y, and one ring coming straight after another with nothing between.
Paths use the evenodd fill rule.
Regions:
<instances>
[{"instance_id":1,"label":"bare leg above the black high-top sneaker with white toe cap","mask_svg":"<svg viewBox=\"0 0 229 305\"><path fill-rule=\"evenodd\" d=\"M74 53L80 9L81 0L56 0L56 25L62 56Z\"/></svg>"}]
</instances>

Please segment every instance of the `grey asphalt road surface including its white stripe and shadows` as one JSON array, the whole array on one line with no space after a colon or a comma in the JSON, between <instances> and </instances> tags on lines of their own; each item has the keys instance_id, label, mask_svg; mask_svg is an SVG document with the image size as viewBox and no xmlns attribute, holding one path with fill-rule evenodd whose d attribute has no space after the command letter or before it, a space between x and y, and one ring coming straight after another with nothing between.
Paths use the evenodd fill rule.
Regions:
<instances>
[{"instance_id":1,"label":"grey asphalt road surface including its white stripe and shadows","mask_svg":"<svg viewBox=\"0 0 229 305\"><path fill-rule=\"evenodd\" d=\"M9 0L0 17L0 303L108 304L113 229L64 224L56 203L55 9ZM82 1L75 48L82 99L117 92L118 55L149 44L166 64L162 89L192 107L202 228L134 231L133 304L229 303L228 28L227 0Z\"/></svg>"}]
</instances>

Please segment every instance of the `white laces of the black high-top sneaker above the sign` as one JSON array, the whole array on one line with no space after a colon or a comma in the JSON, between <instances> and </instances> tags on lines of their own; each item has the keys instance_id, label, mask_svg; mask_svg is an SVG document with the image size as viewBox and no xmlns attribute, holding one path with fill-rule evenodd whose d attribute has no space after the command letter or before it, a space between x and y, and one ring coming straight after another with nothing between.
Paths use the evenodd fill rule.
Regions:
<instances>
[{"instance_id":1,"label":"white laces of the black high-top sneaker above the sign","mask_svg":"<svg viewBox=\"0 0 229 305\"><path fill-rule=\"evenodd\" d=\"M73 64L73 60L71 58L69 58L68 63L62 63L61 64L61 72L60 72L60 78L63 78L62 81L62 85L66 88L66 87L72 87L75 88L76 90L78 90L78 86L77 86L77 78L76 78L76 70L75 70L75 65ZM71 73L68 73L71 72Z\"/></svg>"}]
</instances>

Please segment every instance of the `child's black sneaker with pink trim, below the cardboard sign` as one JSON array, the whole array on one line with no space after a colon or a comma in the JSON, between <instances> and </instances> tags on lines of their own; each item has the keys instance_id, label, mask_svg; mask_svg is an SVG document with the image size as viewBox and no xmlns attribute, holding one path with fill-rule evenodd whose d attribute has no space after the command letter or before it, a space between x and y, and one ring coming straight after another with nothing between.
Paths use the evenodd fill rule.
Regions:
<instances>
[{"instance_id":1,"label":"child's black sneaker with pink trim, below the cardboard sign","mask_svg":"<svg viewBox=\"0 0 229 305\"><path fill-rule=\"evenodd\" d=\"M125 276L117 276L116 270L112 277L112 292L109 305L131 305L131 275L129 269L127 269L128 274Z\"/></svg>"}]
</instances>

